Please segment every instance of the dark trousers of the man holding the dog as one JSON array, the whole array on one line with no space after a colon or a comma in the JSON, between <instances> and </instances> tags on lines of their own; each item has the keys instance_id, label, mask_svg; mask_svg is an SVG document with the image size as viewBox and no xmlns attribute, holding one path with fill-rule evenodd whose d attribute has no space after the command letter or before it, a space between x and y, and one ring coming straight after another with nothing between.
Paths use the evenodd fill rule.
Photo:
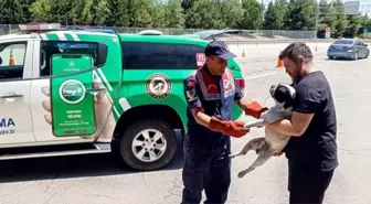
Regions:
<instances>
[{"instance_id":1,"label":"dark trousers of the man holding the dog","mask_svg":"<svg viewBox=\"0 0 371 204\"><path fill-rule=\"evenodd\" d=\"M322 204L325 192L331 183L333 171L315 171L289 160L289 204Z\"/></svg>"}]
</instances>

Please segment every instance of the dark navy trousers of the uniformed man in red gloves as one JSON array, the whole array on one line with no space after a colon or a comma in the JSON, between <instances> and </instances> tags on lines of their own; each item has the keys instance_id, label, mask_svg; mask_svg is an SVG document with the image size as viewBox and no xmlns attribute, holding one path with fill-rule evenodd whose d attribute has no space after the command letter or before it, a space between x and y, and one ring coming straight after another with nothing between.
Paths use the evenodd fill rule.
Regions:
<instances>
[{"instance_id":1,"label":"dark navy trousers of the uniformed man in red gloves","mask_svg":"<svg viewBox=\"0 0 371 204\"><path fill-rule=\"evenodd\" d=\"M183 195L181 204L224 204L231 184L230 142L215 147L188 144L184 141Z\"/></svg>"}]
</instances>

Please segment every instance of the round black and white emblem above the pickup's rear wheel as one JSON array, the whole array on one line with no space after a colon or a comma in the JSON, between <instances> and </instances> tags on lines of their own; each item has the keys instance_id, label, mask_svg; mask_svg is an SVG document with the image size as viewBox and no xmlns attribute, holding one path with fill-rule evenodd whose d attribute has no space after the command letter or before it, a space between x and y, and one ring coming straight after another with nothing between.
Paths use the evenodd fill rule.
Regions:
<instances>
[{"instance_id":1,"label":"round black and white emblem above the pickup's rear wheel","mask_svg":"<svg viewBox=\"0 0 371 204\"><path fill-rule=\"evenodd\" d=\"M153 74L147 79L146 89L153 98L166 98L171 92L170 78L162 74Z\"/></svg>"}]
</instances>

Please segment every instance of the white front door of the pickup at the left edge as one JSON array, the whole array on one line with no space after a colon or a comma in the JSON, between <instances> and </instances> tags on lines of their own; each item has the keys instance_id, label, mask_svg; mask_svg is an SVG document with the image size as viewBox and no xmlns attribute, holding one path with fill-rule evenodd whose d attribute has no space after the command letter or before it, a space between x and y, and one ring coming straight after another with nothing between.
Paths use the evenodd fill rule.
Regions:
<instances>
[{"instance_id":1,"label":"white front door of the pickup at the left edge","mask_svg":"<svg viewBox=\"0 0 371 204\"><path fill-rule=\"evenodd\" d=\"M0 144L35 141L30 111L33 44L0 42Z\"/></svg>"}]
</instances>

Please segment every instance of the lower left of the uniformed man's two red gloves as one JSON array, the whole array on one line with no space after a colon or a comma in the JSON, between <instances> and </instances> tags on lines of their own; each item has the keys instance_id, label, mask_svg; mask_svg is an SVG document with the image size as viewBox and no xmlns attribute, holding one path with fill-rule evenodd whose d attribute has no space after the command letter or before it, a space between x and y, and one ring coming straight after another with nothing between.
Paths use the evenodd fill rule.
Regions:
<instances>
[{"instance_id":1,"label":"lower left of the uniformed man's two red gloves","mask_svg":"<svg viewBox=\"0 0 371 204\"><path fill-rule=\"evenodd\" d=\"M211 117L209 128L213 131L219 131L235 138L241 138L250 132L250 129L245 128L242 121L222 121L214 116Z\"/></svg>"}]
</instances>

